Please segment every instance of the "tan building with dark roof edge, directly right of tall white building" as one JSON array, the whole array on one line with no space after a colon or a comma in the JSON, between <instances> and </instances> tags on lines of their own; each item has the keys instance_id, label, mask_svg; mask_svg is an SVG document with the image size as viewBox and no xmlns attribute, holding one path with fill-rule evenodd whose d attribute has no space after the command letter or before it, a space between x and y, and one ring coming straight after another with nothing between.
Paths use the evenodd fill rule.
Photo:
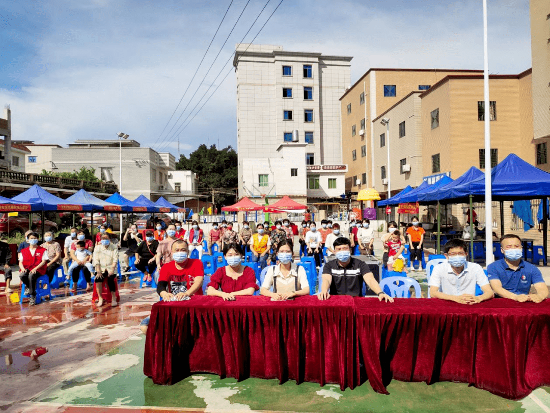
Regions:
<instances>
[{"instance_id":1,"label":"tan building with dark roof edge, directly right of tall white building","mask_svg":"<svg viewBox=\"0 0 550 413\"><path fill-rule=\"evenodd\" d=\"M375 186L375 176L379 171L373 169L373 165L376 162L375 147L379 134L373 131L372 119L377 118L412 91L428 90L448 75L481 73L481 70L370 69L362 75L340 97L342 163L348 165L345 175L346 192ZM392 193L394 189L397 187L392 186Z\"/></svg>"}]
</instances>

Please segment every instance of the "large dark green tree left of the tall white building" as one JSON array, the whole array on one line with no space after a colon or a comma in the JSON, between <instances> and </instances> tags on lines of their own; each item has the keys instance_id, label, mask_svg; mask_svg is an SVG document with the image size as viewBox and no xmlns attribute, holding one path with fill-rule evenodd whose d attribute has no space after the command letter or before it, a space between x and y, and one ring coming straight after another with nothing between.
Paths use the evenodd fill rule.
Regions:
<instances>
[{"instance_id":1,"label":"large dark green tree left of the tall white building","mask_svg":"<svg viewBox=\"0 0 550 413\"><path fill-rule=\"evenodd\" d=\"M216 145L207 148L201 144L189 158L180 155L175 169L178 171L193 171L199 177L199 189L201 193L207 189L221 189L231 193L238 186L237 152L232 146L224 149L217 149ZM227 193L214 193L214 200L217 206L231 205L235 203L235 195Z\"/></svg>"}]
</instances>

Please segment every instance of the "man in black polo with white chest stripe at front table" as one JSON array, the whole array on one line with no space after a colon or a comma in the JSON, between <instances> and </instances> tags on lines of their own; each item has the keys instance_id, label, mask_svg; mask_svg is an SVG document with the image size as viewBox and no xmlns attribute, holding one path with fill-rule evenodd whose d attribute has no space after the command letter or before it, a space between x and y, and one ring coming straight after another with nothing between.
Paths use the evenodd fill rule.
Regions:
<instances>
[{"instance_id":1,"label":"man in black polo with white chest stripe at front table","mask_svg":"<svg viewBox=\"0 0 550 413\"><path fill-rule=\"evenodd\" d=\"M378 295L378 300L393 302L393 298L384 294L374 274L365 262L351 257L351 241L339 237L333 242L336 259L324 264L319 300L327 300L331 295L363 295L363 282Z\"/></svg>"}]
</instances>

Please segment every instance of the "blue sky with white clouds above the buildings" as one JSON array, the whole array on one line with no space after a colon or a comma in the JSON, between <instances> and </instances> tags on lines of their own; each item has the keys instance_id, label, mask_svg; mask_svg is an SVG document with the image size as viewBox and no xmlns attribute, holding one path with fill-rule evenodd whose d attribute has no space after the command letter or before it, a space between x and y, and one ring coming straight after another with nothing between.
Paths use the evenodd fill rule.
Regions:
<instances>
[{"instance_id":1,"label":"blue sky with white clouds above the buildings","mask_svg":"<svg viewBox=\"0 0 550 413\"><path fill-rule=\"evenodd\" d=\"M219 85L179 133L180 151L189 154L201 143L236 147L234 73L219 83L235 44L267 0L250 0L221 46L247 1L233 0L188 94L161 134L230 0L3 0L0 104L12 109L13 139L65 145L123 131L177 156L174 132L180 123L168 133L175 119L188 103L180 122L193 117L191 108L208 87L213 85L206 97ZM244 42L279 1L267 4ZM488 9L491 73L531 67L529 2L489 0ZM482 69L482 34L481 0L284 0L254 42L353 56L354 83L371 67Z\"/></svg>"}]
</instances>

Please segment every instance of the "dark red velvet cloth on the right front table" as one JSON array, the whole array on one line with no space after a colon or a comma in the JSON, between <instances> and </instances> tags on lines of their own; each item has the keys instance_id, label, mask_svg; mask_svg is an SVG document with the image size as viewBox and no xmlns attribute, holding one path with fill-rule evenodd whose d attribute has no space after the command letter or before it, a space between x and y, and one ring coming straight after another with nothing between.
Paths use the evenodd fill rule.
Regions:
<instances>
[{"instance_id":1,"label":"dark red velvet cloth on the right front table","mask_svg":"<svg viewBox=\"0 0 550 413\"><path fill-rule=\"evenodd\" d=\"M368 380L388 394L392 378L463 382L507 399L550 385L550 301L504 298L477 305L397 298L388 305L355 298Z\"/></svg>"}]
</instances>

